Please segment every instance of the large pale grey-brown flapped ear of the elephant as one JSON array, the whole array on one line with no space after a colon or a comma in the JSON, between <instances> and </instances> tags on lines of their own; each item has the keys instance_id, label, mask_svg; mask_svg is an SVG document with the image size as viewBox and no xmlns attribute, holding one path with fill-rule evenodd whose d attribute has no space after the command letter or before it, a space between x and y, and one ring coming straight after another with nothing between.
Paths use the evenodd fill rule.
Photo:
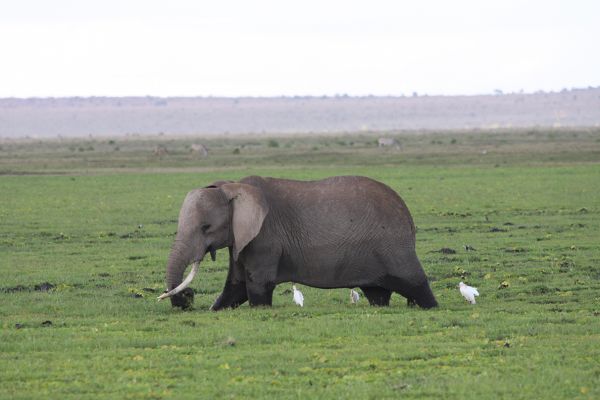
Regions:
<instances>
[{"instance_id":1,"label":"large pale grey-brown flapped ear of the elephant","mask_svg":"<svg viewBox=\"0 0 600 400\"><path fill-rule=\"evenodd\" d=\"M244 183L227 183L221 186L233 207L233 259L258 235L269 212L262 191Z\"/></svg>"}]
</instances>

